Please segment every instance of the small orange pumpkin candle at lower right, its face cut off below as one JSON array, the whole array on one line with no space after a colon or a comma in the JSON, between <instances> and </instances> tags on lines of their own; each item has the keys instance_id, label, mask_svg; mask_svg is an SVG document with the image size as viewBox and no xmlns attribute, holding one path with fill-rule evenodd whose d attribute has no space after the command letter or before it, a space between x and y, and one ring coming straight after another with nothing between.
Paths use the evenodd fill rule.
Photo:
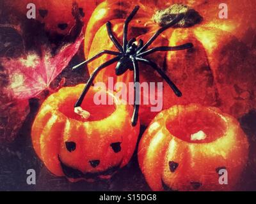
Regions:
<instances>
[{"instance_id":1,"label":"small orange pumpkin candle at lower right, its face cut off below","mask_svg":"<svg viewBox=\"0 0 256 204\"><path fill-rule=\"evenodd\" d=\"M248 142L236 119L201 105L163 110L138 149L141 171L154 191L234 189L247 157ZM223 171L227 184L221 185Z\"/></svg>"}]
</instances>

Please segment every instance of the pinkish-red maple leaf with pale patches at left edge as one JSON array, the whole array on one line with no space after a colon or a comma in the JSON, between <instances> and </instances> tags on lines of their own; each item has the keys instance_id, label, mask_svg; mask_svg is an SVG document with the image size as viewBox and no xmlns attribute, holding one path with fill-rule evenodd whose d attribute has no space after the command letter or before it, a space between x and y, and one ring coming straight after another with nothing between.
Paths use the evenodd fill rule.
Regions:
<instances>
[{"instance_id":1,"label":"pinkish-red maple leaf with pale patches at left edge","mask_svg":"<svg viewBox=\"0 0 256 204\"><path fill-rule=\"evenodd\" d=\"M68 66L82 40L83 37L79 37L75 43L65 45L56 55L52 55L51 50L43 46L42 56L29 53L16 59L2 59L2 66L8 70L8 88L13 96L17 99L29 99L49 89L52 80Z\"/></svg>"}]
</instances>

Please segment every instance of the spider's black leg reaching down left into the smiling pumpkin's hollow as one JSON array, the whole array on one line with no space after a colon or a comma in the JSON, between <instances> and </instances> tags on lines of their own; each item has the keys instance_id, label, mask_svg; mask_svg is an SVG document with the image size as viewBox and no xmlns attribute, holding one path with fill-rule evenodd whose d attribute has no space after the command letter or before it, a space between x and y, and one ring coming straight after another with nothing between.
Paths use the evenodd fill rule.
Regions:
<instances>
[{"instance_id":1,"label":"spider's black leg reaching down left into the smiling pumpkin's hollow","mask_svg":"<svg viewBox=\"0 0 256 204\"><path fill-rule=\"evenodd\" d=\"M81 106L81 104L83 103L84 96L86 95L86 93L90 89L90 86L92 85L92 82L93 82L94 78L98 75L99 71L102 70L103 68L106 68L110 64L113 64L114 62L117 62L119 59L120 59L120 57L116 56L113 59L110 59L109 61L104 62L103 64L101 64L98 68L96 68L93 71L92 76L88 79L81 96L76 101L76 104L74 106L75 108Z\"/></svg>"}]
</instances>

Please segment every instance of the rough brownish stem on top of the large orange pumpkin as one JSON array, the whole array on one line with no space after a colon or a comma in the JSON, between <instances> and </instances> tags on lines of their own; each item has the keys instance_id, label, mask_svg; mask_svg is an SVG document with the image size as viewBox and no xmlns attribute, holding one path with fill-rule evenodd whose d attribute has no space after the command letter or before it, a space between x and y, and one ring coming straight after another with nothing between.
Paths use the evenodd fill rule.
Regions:
<instances>
[{"instance_id":1,"label":"rough brownish stem on top of the large orange pumpkin","mask_svg":"<svg viewBox=\"0 0 256 204\"><path fill-rule=\"evenodd\" d=\"M196 10L193 10L192 8L189 8L189 6L181 3L173 4L164 10L156 11L152 20L164 27L165 25L170 24L170 22L172 22L179 13L184 13L185 16L177 24L173 25L173 27L191 27L195 24L200 24L203 20L203 17L200 16Z\"/></svg>"}]
</instances>

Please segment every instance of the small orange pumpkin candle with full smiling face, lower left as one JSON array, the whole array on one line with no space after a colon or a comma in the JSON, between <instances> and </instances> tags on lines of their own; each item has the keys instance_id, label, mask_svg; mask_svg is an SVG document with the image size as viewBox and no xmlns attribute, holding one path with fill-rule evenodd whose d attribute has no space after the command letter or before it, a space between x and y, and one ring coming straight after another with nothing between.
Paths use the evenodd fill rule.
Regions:
<instances>
[{"instance_id":1,"label":"small orange pumpkin candle with full smiling face, lower left","mask_svg":"<svg viewBox=\"0 0 256 204\"><path fill-rule=\"evenodd\" d=\"M95 105L91 89L81 106L90 117L74 113L83 87L64 87L49 96L31 131L36 154L49 171L72 182L111 177L131 159L140 129L140 124L131 126L132 106L118 105L109 93L113 105Z\"/></svg>"}]
</instances>

